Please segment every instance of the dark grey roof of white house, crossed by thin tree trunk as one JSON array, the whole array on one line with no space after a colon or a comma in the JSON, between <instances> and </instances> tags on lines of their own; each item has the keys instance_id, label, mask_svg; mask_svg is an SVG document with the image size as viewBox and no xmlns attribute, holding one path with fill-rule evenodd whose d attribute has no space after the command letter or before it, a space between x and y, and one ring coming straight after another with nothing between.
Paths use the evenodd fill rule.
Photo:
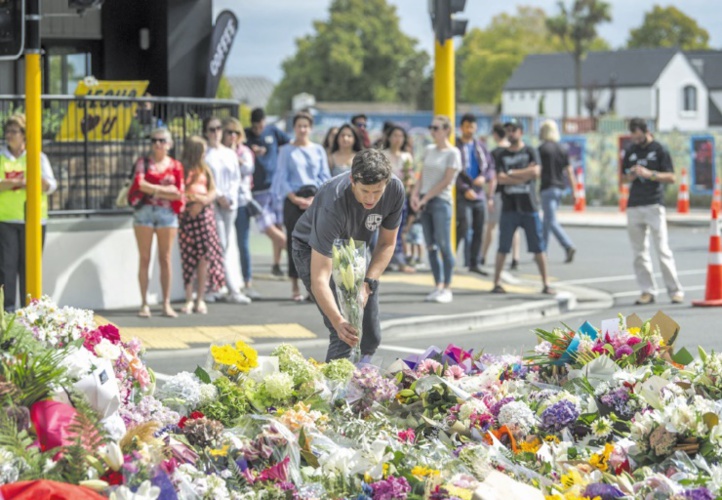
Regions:
<instances>
[{"instance_id":1,"label":"dark grey roof of white house, crossed by thin tree trunk","mask_svg":"<svg viewBox=\"0 0 722 500\"><path fill-rule=\"evenodd\" d=\"M678 49L631 49L590 52L582 64L582 85L606 87L615 79L617 87L654 84ZM575 88L574 60L566 52L532 54L511 75L504 90Z\"/></svg>"}]
</instances>

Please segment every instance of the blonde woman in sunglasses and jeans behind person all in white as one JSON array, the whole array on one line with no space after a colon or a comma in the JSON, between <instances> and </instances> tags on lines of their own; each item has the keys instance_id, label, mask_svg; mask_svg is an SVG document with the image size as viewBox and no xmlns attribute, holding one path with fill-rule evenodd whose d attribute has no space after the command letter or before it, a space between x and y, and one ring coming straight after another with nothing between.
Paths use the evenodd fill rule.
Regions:
<instances>
[{"instance_id":1,"label":"blonde woman in sunglasses and jeans behind person all in white","mask_svg":"<svg viewBox=\"0 0 722 500\"><path fill-rule=\"evenodd\" d=\"M253 171L255 170L255 159L253 151L244 144L246 133L241 122L237 118L226 118L223 120L223 145L235 151L238 157L238 167L241 172L241 186L238 190L238 209L236 210L236 240L238 251L241 254L241 272L243 273L243 294L251 300L260 299L261 295L252 288L253 271L251 268L251 211L249 203L253 202L251 184L253 182Z\"/></svg>"}]
</instances>

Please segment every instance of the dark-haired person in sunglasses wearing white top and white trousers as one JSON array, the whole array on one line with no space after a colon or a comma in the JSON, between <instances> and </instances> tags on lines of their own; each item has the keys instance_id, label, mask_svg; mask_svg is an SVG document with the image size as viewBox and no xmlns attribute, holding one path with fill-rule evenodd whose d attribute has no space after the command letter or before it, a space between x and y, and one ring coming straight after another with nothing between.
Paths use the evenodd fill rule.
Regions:
<instances>
[{"instance_id":1,"label":"dark-haired person in sunglasses wearing white top and white trousers","mask_svg":"<svg viewBox=\"0 0 722 500\"><path fill-rule=\"evenodd\" d=\"M211 116L203 120L203 132L208 141L206 163L213 172L216 183L216 229L218 238L223 247L223 265L226 274L226 287L228 295L225 297L207 295L206 301L227 300L236 304L250 304L251 299L241 293L241 280L236 273L231 272L231 228L236 223L236 208L238 207L238 193L241 190L241 169L238 165L238 156L235 151L227 148L221 142L223 126L221 120Z\"/></svg>"}]
</instances>

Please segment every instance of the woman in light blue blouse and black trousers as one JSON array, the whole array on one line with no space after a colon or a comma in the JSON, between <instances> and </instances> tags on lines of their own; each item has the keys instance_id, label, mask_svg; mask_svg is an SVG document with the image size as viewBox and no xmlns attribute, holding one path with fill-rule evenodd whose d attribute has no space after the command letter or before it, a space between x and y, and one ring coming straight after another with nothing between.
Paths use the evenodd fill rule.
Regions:
<instances>
[{"instance_id":1,"label":"woman in light blue blouse and black trousers","mask_svg":"<svg viewBox=\"0 0 722 500\"><path fill-rule=\"evenodd\" d=\"M293 229L298 219L311 206L318 188L331 178L328 159L323 146L311 142L313 117L300 111L293 117L293 142L286 144L278 154L278 168L273 177L271 192L283 206L283 223L286 226L288 277L291 278L292 299L303 302L298 284L298 271L293 262Z\"/></svg>"}]
</instances>

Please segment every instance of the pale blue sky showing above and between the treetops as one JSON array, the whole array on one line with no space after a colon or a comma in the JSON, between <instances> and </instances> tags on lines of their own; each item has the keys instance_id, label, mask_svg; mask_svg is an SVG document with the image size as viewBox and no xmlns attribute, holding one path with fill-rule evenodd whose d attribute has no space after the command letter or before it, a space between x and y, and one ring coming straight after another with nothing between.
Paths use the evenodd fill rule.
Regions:
<instances>
[{"instance_id":1,"label":"pale blue sky showing above and between the treetops","mask_svg":"<svg viewBox=\"0 0 722 500\"><path fill-rule=\"evenodd\" d=\"M396 6L401 29L433 53L433 35L426 0L388 0ZM600 27L600 34L612 47L626 43L629 30L642 23L644 13L655 4L670 5L661 0L608 0L612 5L612 23ZM231 76L265 76L273 82L282 77L281 63L296 50L295 40L313 32L315 19L328 17L330 0L214 0L214 12L224 9L235 12L240 32L226 63ZM693 17L710 33L713 47L722 46L722 36L715 30L722 24L719 0L685 0L675 2L677 8ZM517 5L541 7L556 12L557 0L467 0L463 17L469 27L483 28L496 14L516 12ZM461 16L459 16L461 17Z\"/></svg>"}]
</instances>

